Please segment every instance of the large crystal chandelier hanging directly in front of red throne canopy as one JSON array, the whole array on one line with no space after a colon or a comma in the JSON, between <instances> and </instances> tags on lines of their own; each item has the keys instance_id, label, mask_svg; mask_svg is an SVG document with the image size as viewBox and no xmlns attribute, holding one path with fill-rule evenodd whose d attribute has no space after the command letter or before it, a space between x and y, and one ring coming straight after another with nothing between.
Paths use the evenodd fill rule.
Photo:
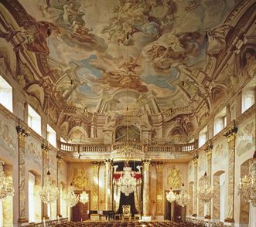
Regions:
<instances>
[{"instance_id":1,"label":"large crystal chandelier hanging directly in front of red throne canopy","mask_svg":"<svg viewBox=\"0 0 256 227\"><path fill-rule=\"evenodd\" d=\"M127 164L123 170L124 174L118 179L117 185L120 187L121 192L128 196L135 191L137 180L135 178L135 173L131 171L131 167L128 167ZM140 182L138 181L138 183Z\"/></svg>"}]
</instances>

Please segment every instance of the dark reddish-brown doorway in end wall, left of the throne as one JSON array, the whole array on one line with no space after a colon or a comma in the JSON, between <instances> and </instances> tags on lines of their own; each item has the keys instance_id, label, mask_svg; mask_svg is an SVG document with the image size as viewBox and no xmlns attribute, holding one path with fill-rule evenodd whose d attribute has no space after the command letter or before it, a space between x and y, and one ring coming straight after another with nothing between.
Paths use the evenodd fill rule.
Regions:
<instances>
[{"instance_id":1,"label":"dark reddish-brown doorway in end wall, left of the throne","mask_svg":"<svg viewBox=\"0 0 256 227\"><path fill-rule=\"evenodd\" d=\"M82 191L74 191L76 195L80 195ZM86 191L90 198L90 191ZM90 200L89 202L83 204L81 202L77 202L77 205L71 208L70 220L72 222L82 222L88 219L87 211L90 208Z\"/></svg>"}]
</instances>

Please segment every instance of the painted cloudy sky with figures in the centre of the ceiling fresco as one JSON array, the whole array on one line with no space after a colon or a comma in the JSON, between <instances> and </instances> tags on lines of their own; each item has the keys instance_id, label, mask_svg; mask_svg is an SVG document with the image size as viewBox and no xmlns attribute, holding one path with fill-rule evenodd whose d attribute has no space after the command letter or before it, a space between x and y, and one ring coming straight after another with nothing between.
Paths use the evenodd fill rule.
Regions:
<instances>
[{"instance_id":1,"label":"painted cloudy sky with figures in the centre of the ceiling fresco","mask_svg":"<svg viewBox=\"0 0 256 227\"><path fill-rule=\"evenodd\" d=\"M36 21L58 29L58 36L47 39L49 57L79 66L73 92L79 100L126 87L169 97L176 90L171 79L205 59L205 32L218 27L234 5L232 0L19 2Z\"/></svg>"}]
</instances>

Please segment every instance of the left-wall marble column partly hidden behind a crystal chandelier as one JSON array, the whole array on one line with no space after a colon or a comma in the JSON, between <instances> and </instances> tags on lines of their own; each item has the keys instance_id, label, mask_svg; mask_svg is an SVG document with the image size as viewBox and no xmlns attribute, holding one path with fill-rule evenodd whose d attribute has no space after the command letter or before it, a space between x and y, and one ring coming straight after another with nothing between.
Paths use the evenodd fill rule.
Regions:
<instances>
[{"instance_id":1,"label":"left-wall marble column partly hidden behind a crystal chandelier","mask_svg":"<svg viewBox=\"0 0 256 227\"><path fill-rule=\"evenodd\" d=\"M49 147L48 147L47 144L43 143L41 145L41 148L42 148L42 151L43 151L43 177L42 177L42 187L43 187L44 181L47 178ZM42 206L43 206L43 208L42 208L42 211L43 211L42 219L49 219L47 204L42 202Z\"/></svg>"}]
</instances>

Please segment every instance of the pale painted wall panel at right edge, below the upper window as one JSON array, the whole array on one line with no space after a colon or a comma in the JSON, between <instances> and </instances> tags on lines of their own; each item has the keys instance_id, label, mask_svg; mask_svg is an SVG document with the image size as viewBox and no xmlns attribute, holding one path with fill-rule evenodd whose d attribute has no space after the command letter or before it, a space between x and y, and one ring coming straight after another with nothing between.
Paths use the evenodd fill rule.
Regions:
<instances>
[{"instance_id":1,"label":"pale painted wall panel at right edge, below the upper window","mask_svg":"<svg viewBox=\"0 0 256 227\"><path fill-rule=\"evenodd\" d=\"M242 124L237 132L236 154L241 156L255 148L255 120Z\"/></svg>"}]
</instances>

